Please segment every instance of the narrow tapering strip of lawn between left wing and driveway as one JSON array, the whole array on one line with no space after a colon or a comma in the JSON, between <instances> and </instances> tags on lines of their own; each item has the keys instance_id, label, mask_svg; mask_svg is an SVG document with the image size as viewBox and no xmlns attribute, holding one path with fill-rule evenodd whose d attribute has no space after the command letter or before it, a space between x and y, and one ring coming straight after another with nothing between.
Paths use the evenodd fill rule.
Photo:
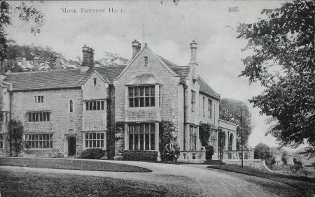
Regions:
<instances>
[{"instance_id":1,"label":"narrow tapering strip of lawn between left wing and driveway","mask_svg":"<svg viewBox=\"0 0 315 197\"><path fill-rule=\"evenodd\" d=\"M44 158L0 158L0 166L20 166L31 168L55 168L68 170L94 170L111 172L149 173L152 170L138 166L106 161L87 161L80 159L44 159Z\"/></svg>"}]
</instances>

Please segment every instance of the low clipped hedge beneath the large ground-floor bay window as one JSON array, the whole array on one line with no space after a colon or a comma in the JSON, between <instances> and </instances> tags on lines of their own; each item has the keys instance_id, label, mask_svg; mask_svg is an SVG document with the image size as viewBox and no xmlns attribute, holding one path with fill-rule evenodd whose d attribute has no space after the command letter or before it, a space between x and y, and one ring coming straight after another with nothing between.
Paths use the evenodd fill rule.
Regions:
<instances>
[{"instance_id":1,"label":"low clipped hedge beneath the large ground-floor bay window","mask_svg":"<svg viewBox=\"0 0 315 197\"><path fill-rule=\"evenodd\" d=\"M123 152L124 160L131 161L156 161L158 158L157 151L137 151L137 150L125 150Z\"/></svg>"}]
</instances>

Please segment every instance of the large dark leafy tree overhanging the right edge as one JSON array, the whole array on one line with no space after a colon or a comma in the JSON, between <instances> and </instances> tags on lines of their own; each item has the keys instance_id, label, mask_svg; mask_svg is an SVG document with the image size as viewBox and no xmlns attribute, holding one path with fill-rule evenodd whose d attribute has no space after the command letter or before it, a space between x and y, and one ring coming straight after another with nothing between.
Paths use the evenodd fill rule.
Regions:
<instances>
[{"instance_id":1,"label":"large dark leafy tree overhanging the right edge","mask_svg":"<svg viewBox=\"0 0 315 197\"><path fill-rule=\"evenodd\" d=\"M280 145L307 140L314 149L314 2L286 2L262 10L262 17L237 29L237 38L248 41L244 50L253 52L240 76L265 87L250 102L274 119L267 133Z\"/></svg>"}]
</instances>

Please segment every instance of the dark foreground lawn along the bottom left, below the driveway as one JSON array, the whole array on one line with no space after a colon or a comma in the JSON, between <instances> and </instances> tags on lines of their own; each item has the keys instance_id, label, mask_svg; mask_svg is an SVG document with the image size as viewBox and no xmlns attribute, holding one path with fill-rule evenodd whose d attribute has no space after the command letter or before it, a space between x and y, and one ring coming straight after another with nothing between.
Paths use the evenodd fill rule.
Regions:
<instances>
[{"instance_id":1,"label":"dark foreground lawn along the bottom left, below the driveway","mask_svg":"<svg viewBox=\"0 0 315 197\"><path fill-rule=\"evenodd\" d=\"M14 172L3 169L0 169L0 175L1 196L195 196L196 194L193 189L182 185L109 177Z\"/></svg>"}]
</instances>

